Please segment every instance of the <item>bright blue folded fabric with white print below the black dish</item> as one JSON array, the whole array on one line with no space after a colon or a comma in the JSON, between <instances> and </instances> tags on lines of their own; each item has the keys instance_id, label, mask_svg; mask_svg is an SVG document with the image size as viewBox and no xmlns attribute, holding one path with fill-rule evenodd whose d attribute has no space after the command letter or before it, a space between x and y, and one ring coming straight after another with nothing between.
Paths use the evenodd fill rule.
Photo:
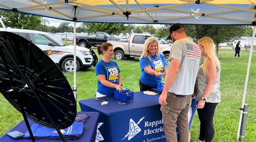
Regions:
<instances>
[{"instance_id":1,"label":"bright blue folded fabric with white print below the black dish","mask_svg":"<svg viewBox=\"0 0 256 142\"><path fill-rule=\"evenodd\" d=\"M77 139L81 137L83 127L83 123L74 122L68 128L60 130L60 132L62 132L66 139ZM31 130L36 139L60 139L55 129L50 129L36 123L31 126ZM24 138L30 138L29 131L26 131Z\"/></svg>"}]
</instances>

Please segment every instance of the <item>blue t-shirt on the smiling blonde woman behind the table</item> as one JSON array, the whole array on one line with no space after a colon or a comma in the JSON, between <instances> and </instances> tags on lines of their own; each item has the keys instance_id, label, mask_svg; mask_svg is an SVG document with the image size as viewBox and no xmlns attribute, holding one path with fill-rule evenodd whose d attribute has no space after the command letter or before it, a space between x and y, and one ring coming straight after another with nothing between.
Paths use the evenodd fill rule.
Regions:
<instances>
[{"instance_id":1,"label":"blue t-shirt on the smiling blonde woman behind the table","mask_svg":"<svg viewBox=\"0 0 256 142\"><path fill-rule=\"evenodd\" d=\"M151 61L146 56L140 58L139 65L140 70L142 71L142 75L140 76L139 79L140 82L151 87L157 87L157 84L162 82L162 77L156 77L144 71L144 68L146 66L151 66L151 69L153 69L154 71L163 73L164 68L166 66L166 62L164 60L164 55L162 53L159 54L159 57L157 57L156 55L151 56Z\"/></svg>"}]
</instances>

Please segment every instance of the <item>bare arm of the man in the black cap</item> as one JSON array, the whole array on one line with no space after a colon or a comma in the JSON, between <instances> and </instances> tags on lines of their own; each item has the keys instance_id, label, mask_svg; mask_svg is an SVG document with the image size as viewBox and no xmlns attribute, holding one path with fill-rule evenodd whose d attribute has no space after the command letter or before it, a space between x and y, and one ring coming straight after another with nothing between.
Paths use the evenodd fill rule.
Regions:
<instances>
[{"instance_id":1,"label":"bare arm of the man in the black cap","mask_svg":"<svg viewBox=\"0 0 256 142\"><path fill-rule=\"evenodd\" d=\"M167 73L167 77L165 79L165 85L163 92L161 93L159 97L159 104L160 105L166 105L166 98L167 98L167 92L172 86L174 80L176 79L176 76L179 71L179 66L180 66L180 60L172 58L171 60L171 67L169 69L169 72Z\"/></svg>"}]
</instances>

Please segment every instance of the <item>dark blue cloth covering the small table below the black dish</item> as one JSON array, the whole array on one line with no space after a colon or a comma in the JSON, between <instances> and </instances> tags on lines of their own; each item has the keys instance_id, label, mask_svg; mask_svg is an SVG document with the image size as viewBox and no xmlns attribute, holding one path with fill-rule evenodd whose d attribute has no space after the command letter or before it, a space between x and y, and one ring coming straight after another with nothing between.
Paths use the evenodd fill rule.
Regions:
<instances>
[{"instance_id":1,"label":"dark blue cloth covering the small table below the black dish","mask_svg":"<svg viewBox=\"0 0 256 142\"><path fill-rule=\"evenodd\" d=\"M96 138L96 130L97 130L97 121L98 121L98 117L99 117L99 113L98 112L77 112L77 114L87 114L90 116L90 118L86 121L86 123L84 124L84 128L83 128L83 134L79 139L76 140L68 140L67 141L72 141L72 142L84 142L84 141L95 141ZM34 124L33 121L31 121L29 119L29 124L30 126L32 126ZM18 125L16 125L13 129L11 129L9 132L11 131L19 131L22 133L25 133L26 131L28 131L28 129L26 128L26 124L24 122L24 120L19 123ZM28 142L28 141L32 141L31 139L25 139L25 138L20 138L20 139L14 139L11 138L10 136L8 136L6 133L0 138L1 142L12 142L12 141L21 141L21 142ZM36 142L60 142L62 140L45 140L45 139L36 139Z\"/></svg>"}]
</instances>

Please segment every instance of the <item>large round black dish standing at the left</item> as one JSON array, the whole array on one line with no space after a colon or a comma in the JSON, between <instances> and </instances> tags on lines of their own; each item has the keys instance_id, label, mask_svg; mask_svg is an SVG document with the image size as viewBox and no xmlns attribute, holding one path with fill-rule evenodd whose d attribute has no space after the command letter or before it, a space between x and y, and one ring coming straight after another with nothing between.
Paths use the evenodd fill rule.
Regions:
<instances>
[{"instance_id":1,"label":"large round black dish standing at the left","mask_svg":"<svg viewBox=\"0 0 256 142\"><path fill-rule=\"evenodd\" d=\"M75 96L57 65L29 40L3 31L0 91L25 121L28 116L58 131L72 125L76 118Z\"/></svg>"}]
</instances>

